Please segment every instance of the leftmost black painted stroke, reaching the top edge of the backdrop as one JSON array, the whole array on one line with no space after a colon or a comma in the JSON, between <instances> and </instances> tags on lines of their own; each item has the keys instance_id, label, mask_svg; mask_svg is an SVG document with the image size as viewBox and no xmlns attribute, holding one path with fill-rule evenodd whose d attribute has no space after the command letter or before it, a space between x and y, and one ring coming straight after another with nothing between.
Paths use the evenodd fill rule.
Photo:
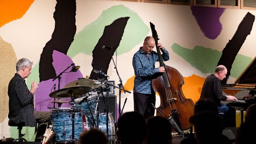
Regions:
<instances>
[{"instance_id":1,"label":"leftmost black painted stroke, reaching the top edge of the backdrop","mask_svg":"<svg viewBox=\"0 0 256 144\"><path fill-rule=\"evenodd\" d=\"M57 0L54 12L55 28L52 39L45 44L39 61L39 79L45 81L56 77L52 66L54 50L67 54L76 33L76 1Z\"/></svg>"}]
</instances>

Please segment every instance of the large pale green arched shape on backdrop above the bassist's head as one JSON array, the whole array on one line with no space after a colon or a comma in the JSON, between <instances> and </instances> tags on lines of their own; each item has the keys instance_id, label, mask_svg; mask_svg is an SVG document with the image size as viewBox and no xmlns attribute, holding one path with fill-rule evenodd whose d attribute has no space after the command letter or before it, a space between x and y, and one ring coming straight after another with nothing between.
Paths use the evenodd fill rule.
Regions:
<instances>
[{"instance_id":1,"label":"large pale green arched shape on backdrop above the bassist's head","mask_svg":"<svg viewBox=\"0 0 256 144\"><path fill-rule=\"evenodd\" d=\"M67 55L71 58L79 53L92 55L92 51L102 36L105 26L110 25L120 17L130 18L124 29L117 53L121 55L132 50L132 48L144 40L150 29L137 13L128 7L118 5L104 10L97 20L79 31L74 36L74 41L70 45ZM111 37L111 35L109 36Z\"/></svg>"}]
</instances>

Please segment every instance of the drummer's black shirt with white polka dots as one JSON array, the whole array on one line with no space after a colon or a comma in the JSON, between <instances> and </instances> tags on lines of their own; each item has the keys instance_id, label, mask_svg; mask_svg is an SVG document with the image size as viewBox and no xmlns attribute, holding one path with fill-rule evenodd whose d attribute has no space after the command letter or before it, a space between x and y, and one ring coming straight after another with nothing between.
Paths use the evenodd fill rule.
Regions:
<instances>
[{"instance_id":1,"label":"drummer's black shirt with white polka dots","mask_svg":"<svg viewBox=\"0 0 256 144\"><path fill-rule=\"evenodd\" d=\"M34 127L36 122L33 105L33 94L28 90L25 79L23 79L17 73L9 82L8 96L8 118L16 124L24 122L25 126Z\"/></svg>"}]
</instances>

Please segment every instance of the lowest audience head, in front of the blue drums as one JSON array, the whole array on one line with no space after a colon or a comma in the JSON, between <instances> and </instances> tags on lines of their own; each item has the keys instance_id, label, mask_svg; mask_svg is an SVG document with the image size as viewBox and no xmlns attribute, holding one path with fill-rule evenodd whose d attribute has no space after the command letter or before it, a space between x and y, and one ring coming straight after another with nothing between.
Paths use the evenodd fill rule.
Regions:
<instances>
[{"instance_id":1,"label":"lowest audience head, in front of the blue drums","mask_svg":"<svg viewBox=\"0 0 256 144\"><path fill-rule=\"evenodd\" d=\"M80 135L78 144L108 144L108 137L99 129L90 128Z\"/></svg>"}]
</instances>

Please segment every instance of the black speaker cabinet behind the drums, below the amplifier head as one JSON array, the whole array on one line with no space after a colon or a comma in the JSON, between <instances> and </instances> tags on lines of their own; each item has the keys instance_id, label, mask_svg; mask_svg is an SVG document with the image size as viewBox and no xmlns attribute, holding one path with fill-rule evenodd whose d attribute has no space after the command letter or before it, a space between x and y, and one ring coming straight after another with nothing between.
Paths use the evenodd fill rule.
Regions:
<instances>
[{"instance_id":1,"label":"black speaker cabinet behind the drums, below the amplifier head","mask_svg":"<svg viewBox=\"0 0 256 144\"><path fill-rule=\"evenodd\" d=\"M107 104L107 96L104 95L105 103ZM98 108L100 113L105 113L104 111L104 100L102 96L99 96ZM116 122L116 114L117 114L117 96L109 95L108 96L108 112L113 114L113 119Z\"/></svg>"}]
</instances>

